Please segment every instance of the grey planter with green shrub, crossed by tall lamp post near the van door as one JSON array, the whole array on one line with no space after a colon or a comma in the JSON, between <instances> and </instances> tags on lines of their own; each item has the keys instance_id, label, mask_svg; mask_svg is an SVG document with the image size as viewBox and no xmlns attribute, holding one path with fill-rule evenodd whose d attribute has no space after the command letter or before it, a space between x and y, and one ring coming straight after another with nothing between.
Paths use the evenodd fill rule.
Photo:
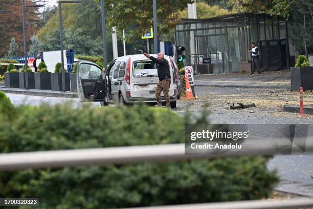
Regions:
<instances>
[{"instance_id":1,"label":"grey planter with green shrub, crossed by tall lamp post near the van door","mask_svg":"<svg viewBox=\"0 0 313 209\"><path fill-rule=\"evenodd\" d=\"M65 77L65 91L71 91L70 73L64 69ZM62 64L58 62L55 66L54 73L51 73L51 89L54 91L61 91L62 87Z\"/></svg>"}]
</instances>

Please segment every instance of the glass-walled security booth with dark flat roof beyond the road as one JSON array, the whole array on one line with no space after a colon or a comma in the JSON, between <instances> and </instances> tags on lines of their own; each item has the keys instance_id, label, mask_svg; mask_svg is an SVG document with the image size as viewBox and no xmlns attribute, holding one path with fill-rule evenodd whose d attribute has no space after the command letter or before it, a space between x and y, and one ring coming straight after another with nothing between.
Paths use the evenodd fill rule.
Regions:
<instances>
[{"instance_id":1,"label":"glass-walled security booth with dark flat roof beyond the road","mask_svg":"<svg viewBox=\"0 0 313 209\"><path fill-rule=\"evenodd\" d=\"M250 44L260 50L261 69L290 64L285 19L266 13L236 13L207 19L182 19L175 27L175 45L185 46L186 65L198 74L250 72Z\"/></svg>"}]
</instances>

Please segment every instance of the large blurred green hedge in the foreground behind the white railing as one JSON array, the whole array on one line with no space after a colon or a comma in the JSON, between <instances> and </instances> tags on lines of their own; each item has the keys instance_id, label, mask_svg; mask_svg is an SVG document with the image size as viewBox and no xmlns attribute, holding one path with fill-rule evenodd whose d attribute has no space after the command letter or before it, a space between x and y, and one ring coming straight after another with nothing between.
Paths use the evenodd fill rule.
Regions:
<instances>
[{"instance_id":1,"label":"large blurred green hedge in the foreground behind the white railing","mask_svg":"<svg viewBox=\"0 0 313 209\"><path fill-rule=\"evenodd\" d=\"M190 122L146 107L16 107L0 112L2 152L184 142ZM204 115L206 116L206 115ZM195 122L204 122L199 117ZM40 208L119 208L260 199L278 181L267 158L229 157L0 172L0 196L38 197Z\"/></svg>"}]
</instances>

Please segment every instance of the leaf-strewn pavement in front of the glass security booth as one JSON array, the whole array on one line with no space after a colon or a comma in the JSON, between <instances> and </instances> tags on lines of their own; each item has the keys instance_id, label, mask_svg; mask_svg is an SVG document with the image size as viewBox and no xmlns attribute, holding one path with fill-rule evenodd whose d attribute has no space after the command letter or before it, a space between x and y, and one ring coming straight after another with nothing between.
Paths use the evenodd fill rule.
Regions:
<instances>
[{"instance_id":1,"label":"leaf-strewn pavement in front of the glass security booth","mask_svg":"<svg viewBox=\"0 0 313 209\"><path fill-rule=\"evenodd\" d=\"M195 86L199 87L232 87L232 88L266 88L290 90L289 71L263 72L255 74L219 74L196 75Z\"/></svg>"}]
</instances>

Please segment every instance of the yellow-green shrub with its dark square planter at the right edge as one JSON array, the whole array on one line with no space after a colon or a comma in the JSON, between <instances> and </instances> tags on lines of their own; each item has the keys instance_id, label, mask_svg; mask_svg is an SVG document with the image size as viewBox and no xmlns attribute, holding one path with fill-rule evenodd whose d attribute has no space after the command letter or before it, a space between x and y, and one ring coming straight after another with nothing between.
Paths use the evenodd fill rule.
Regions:
<instances>
[{"instance_id":1,"label":"yellow-green shrub with its dark square planter at the right edge","mask_svg":"<svg viewBox=\"0 0 313 209\"><path fill-rule=\"evenodd\" d=\"M290 68L290 83L292 90L313 90L313 67L305 55L299 55L294 68Z\"/></svg>"}]
</instances>

